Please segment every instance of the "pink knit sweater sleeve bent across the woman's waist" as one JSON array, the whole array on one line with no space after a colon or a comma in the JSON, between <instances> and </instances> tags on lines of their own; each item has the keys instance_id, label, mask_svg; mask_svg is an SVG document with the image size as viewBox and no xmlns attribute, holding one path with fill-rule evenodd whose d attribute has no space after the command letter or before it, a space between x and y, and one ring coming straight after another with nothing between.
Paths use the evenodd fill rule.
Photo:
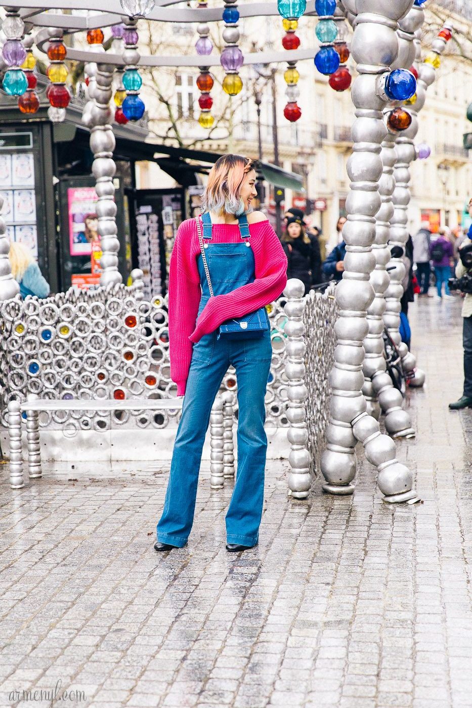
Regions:
<instances>
[{"instance_id":1,"label":"pink knit sweater sleeve bent across the woman's waist","mask_svg":"<svg viewBox=\"0 0 472 708\"><path fill-rule=\"evenodd\" d=\"M196 328L190 336L198 342L205 334L213 332L227 319L242 317L279 297L287 283L287 257L276 232L268 221L257 224L257 235L252 236L255 280L237 287L225 295L210 297L198 317Z\"/></svg>"}]
</instances>

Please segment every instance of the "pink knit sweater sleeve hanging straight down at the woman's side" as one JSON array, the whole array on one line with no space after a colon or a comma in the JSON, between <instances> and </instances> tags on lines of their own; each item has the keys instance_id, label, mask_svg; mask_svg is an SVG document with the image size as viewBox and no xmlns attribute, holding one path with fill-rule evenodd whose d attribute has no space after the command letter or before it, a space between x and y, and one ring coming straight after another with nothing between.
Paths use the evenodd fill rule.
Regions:
<instances>
[{"instance_id":1,"label":"pink knit sweater sleeve hanging straight down at the woman's side","mask_svg":"<svg viewBox=\"0 0 472 708\"><path fill-rule=\"evenodd\" d=\"M169 265L169 356L170 373L177 384L177 395L185 394L192 358L193 331L201 299L196 259L191 252L192 223L183 222L177 229Z\"/></svg>"}]
</instances>

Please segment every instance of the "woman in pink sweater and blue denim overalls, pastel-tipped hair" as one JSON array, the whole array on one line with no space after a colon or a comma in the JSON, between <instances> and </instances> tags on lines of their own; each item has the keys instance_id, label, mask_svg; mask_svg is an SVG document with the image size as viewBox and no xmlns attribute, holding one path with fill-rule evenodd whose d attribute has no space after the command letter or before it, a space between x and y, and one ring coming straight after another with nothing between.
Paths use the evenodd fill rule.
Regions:
<instances>
[{"instance_id":1,"label":"woman in pink sweater and blue denim overalls, pastel-tipped hair","mask_svg":"<svg viewBox=\"0 0 472 708\"><path fill-rule=\"evenodd\" d=\"M196 219L184 221L176 234L169 266L169 353L171 377L184 406L157 524L157 551L184 547L191 532L211 406L230 365L237 375L238 464L225 517L226 549L243 551L259 539L270 332L254 339L218 338L220 324L264 307L286 285L281 243L262 212L251 212L255 182L254 164L240 155L223 155L208 176L200 228L215 297L210 297Z\"/></svg>"}]
</instances>

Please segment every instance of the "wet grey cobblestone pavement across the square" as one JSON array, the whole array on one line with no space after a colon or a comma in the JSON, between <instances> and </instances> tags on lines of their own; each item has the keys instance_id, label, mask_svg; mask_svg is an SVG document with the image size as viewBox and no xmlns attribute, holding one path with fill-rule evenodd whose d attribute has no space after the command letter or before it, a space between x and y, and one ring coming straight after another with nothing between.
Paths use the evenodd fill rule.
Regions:
<instances>
[{"instance_id":1,"label":"wet grey cobblestone pavement across the square","mask_svg":"<svg viewBox=\"0 0 472 708\"><path fill-rule=\"evenodd\" d=\"M259 547L228 554L232 483L212 491L203 469L188 546L157 554L157 465L56 470L17 491L1 468L1 707L58 680L96 708L472 706L472 410L447 410L459 309L412 307L427 386L398 457L421 505L384 505L362 460L354 496L318 479L291 500L287 464L271 463Z\"/></svg>"}]
</instances>

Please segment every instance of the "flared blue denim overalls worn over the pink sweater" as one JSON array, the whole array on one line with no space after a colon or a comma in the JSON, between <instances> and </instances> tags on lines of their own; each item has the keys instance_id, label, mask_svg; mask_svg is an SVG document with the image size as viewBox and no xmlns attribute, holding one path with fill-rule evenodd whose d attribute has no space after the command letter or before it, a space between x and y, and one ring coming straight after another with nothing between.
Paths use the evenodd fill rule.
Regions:
<instances>
[{"instance_id":1,"label":"flared blue denim overalls worn over the pink sweater","mask_svg":"<svg viewBox=\"0 0 472 708\"><path fill-rule=\"evenodd\" d=\"M202 215L203 239L212 238L210 215ZM238 219L241 241L208 244L206 258L215 296L253 282L254 253L249 244L246 217ZM247 243L244 239L247 239ZM198 257L202 297L198 316L210 298L203 260ZM191 532L198 473L210 411L223 376L230 365L237 376L239 416L237 426L237 474L225 516L227 543L253 546L259 539L264 502L264 468L267 438L264 431L264 396L272 348L270 329L257 339L217 338L218 329L193 345L182 415L177 429L169 483L157 540L182 547Z\"/></svg>"}]
</instances>

